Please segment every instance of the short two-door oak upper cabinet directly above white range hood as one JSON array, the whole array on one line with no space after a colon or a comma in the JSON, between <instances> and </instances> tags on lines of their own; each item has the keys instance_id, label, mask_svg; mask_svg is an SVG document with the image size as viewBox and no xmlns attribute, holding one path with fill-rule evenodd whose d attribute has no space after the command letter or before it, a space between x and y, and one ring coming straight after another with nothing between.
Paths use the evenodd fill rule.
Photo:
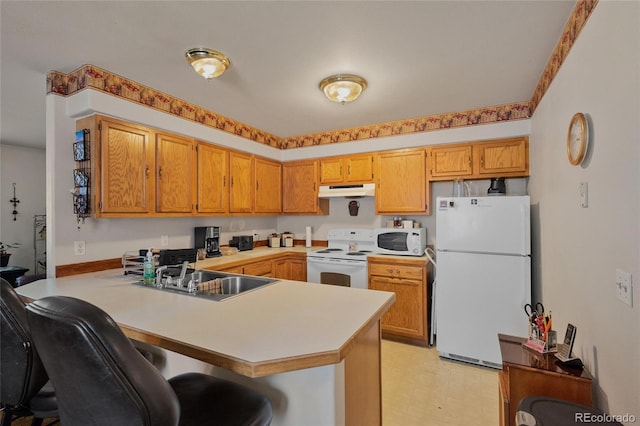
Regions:
<instances>
[{"instance_id":1,"label":"short two-door oak upper cabinet directly above white range hood","mask_svg":"<svg viewBox=\"0 0 640 426\"><path fill-rule=\"evenodd\" d=\"M374 154L323 158L320 160L320 183L325 185L373 182L374 169Z\"/></svg>"}]
</instances>

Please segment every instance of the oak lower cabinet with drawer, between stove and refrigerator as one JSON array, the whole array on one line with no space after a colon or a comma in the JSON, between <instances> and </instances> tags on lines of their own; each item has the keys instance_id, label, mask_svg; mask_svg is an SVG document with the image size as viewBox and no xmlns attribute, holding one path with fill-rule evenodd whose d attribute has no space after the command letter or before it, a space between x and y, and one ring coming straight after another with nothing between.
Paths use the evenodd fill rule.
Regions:
<instances>
[{"instance_id":1,"label":"oak lower cabinet with drawer, between stove and refrigerator","mask_svg":"<svg viewBox=\"0 0 640 426\"><path fill-rule=\"evenodd\" d=\"M424 259L369 257L369 288L396 294L395 303L381 320L383 337L427 345L428 288Z\"/></svg>"}]
</instances>

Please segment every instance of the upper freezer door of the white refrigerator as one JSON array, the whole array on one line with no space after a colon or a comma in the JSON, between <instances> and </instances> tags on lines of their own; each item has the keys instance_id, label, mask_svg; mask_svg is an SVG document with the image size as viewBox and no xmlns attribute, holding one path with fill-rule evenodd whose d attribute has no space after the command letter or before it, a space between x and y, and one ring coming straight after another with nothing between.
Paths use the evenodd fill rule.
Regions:
<instances>
[{"instance_id":1,"label":"upper freezer door of the white refrigerator","mask_svg":"<svg viewBox=\"0 0 640 426\"><path fill-rule=\"evenodd\" d=\"M438 197L439 251L531 254L529 196Z\"/></svg>"}]
</instances>

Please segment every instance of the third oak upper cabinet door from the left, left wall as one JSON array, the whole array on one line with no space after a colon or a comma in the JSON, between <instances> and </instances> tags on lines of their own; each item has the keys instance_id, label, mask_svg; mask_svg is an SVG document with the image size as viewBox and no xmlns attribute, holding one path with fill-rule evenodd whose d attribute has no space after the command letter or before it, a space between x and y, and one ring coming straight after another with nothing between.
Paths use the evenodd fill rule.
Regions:
<instances>
[{"instance_id":1,"label":"third oak upper cabinet door from the left, left wall","mask_svg":"<svg viewBox=\"0 0 640 426\"><path fill-rule=\"evenodd\" d=\"M208 143L198 143L198 213L229 210L229 152Z\"/></svg>"}]
</instances>

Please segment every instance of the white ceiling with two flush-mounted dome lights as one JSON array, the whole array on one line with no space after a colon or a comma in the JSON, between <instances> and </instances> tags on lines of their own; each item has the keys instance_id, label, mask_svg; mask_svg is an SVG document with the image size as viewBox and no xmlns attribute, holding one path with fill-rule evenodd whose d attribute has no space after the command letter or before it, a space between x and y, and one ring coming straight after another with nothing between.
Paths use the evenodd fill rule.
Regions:
<instances>
[{"instance_id":1,"label":"white ceiling with two flush-mounted dome lights","mask_svg":"<svg viewBox=\"0 0 640 426\"><path fill-rule=\"evenodd\" d=\"M527 101L575 0L0 2L0 142L44 147L49 71L92 64L280 137ZM206 81L192 47L232 67ZM368 89L327 100L324 77Z\"/></svg>"}]
</instances>

